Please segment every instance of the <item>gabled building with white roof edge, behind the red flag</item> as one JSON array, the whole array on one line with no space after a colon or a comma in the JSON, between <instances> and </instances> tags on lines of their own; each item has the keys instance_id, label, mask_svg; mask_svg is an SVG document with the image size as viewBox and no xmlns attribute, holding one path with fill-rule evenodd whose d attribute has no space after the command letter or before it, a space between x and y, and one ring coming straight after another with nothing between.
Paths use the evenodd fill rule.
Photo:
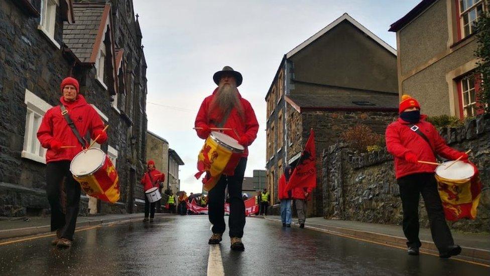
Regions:
<instances>
[{"instance_id":1,"label":"gabled building with white roof edge, behind the red flag","mask_svg":"<svg viewBox=\"0 0 490 276\"><path fill-rule=\"evenodd\" d=\"M384 133L398 112L396 51L344 14L284 55L266 95L267 178L271 204L287 164L315 130L317 189L308 214L322 216L323 149L358 123Z\"/></svg>"}]
</instances>

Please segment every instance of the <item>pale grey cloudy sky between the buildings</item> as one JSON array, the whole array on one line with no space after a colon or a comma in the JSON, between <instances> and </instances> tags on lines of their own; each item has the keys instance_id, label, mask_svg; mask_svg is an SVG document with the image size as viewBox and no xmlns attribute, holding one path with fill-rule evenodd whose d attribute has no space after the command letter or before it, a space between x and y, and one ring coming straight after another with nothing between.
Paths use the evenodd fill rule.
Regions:
<instances>
[{"instance_id":1,"label":"pale grey cloudy sky between the buildings","mask_svg":"<svg viewBox=\"0 0 490 276\"><path fill-rule=\"evenodd\" d=\"M264 97L283 55L343 13L396 48L390 24L420 0L404 1L160 1L134 0L148 63L148 129L167 139L184 160L181 190L200 192L194 178L204 141L192 130L214 72L230 65L259 120L245 175L265 169ZM158 105L155 105L158 104Z\"/></svg>"}]
</instances>

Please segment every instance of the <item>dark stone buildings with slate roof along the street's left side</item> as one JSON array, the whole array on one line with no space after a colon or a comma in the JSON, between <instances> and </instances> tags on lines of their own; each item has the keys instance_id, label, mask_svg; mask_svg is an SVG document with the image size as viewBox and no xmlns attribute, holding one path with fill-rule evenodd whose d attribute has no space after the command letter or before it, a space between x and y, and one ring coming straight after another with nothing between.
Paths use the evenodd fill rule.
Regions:
<instances>
[{"instance_id":1,"label":"dark stone buildings with slate roof along the street's left side","mask_svg":"<svg viewBox=\"0 0 490 276\"><path fill-rule=\"evenodd\" d=\"M45 213L45 153L36 132L66 76L108 124L121 199L83 195L80 212L133 212L145 169L146 62L132 1L0 2L0 215Z\"/></svg>"}]
</instances>

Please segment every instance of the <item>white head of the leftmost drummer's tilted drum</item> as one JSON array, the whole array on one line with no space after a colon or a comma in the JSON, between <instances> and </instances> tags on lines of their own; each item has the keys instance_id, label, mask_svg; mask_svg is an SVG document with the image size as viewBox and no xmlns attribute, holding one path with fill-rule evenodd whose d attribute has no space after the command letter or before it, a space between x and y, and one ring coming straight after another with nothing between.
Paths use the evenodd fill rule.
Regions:
<instances>
[{"instance_id":1,"label":"white head of the leftmost drummer's tilted drum","mask_svg":"<svg viewBox=\"0 0 490 276\"><path fill-rule=\"evenodd\" d=\"M70 163L73 175L87 175L96 171L105 161L105 153L98 148L89 148L78 153Z\"/></svg>"}]
</instances>

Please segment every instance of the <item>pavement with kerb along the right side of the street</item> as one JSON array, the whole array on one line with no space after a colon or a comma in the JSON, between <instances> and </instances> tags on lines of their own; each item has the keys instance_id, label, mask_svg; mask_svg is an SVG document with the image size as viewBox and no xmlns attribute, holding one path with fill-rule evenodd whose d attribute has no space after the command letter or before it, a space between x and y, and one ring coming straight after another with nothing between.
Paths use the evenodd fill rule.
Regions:
<instances>
[{"instance_id":1,"label":"pavement with kerb along the right side of the street","mask_svg":"<svg viewBox=\"0 0 490 276\"><path fill-rule=\"evenodd\" d=\"M281 222L280 216L265 216L264 218ZM295 219L293 219L294 221ZM297 223L296 223L297 225ZM307 218L305 226L309 229L351 238L369 240L376 243L406 248L406 238L401 226L358 221L327 220L322 217ZM490 264L490 234L489 233L460 233L452 232L454 242L463 250L458 258L469 261ZM421 228L419 238L422 242L421 251L437 254L437 248L432 242L430 229Z\"/></svg>"}]
</instances>

